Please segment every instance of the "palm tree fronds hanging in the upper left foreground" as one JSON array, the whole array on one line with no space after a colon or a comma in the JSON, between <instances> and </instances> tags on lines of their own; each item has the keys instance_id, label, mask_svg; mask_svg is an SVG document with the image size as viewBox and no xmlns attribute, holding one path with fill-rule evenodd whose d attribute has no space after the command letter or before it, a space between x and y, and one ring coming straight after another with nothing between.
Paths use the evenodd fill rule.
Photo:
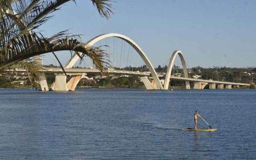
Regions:
<instances>
[{"instance_id":1,"label":"palm tree fronds hanging in the upper left foreground","mask_svg":"<svg viewBox=\"0 0 256 160\"><path fill-rule=\"evenodd\" d=\"M0 0L0 69L17 64L31 69L34 66L31 65L33 64L31 57L44 53L55 55L55 51L69 50L75 51L80 58L89 56L95 66L104 71L108 64L106 53L99 47L91 47L80 42L77 40L79 35L68 35L67 31L61 31L50 37L44 37L35 31L51 18L50 13L59 10L60 5L69 1ZM99 14L107 19L112 13L112 5L109 4L111 1L91 0ZM56 55L55 57L57 58ZM31 63L27 64L28 61Z\"/></svg>"}]
</instances>

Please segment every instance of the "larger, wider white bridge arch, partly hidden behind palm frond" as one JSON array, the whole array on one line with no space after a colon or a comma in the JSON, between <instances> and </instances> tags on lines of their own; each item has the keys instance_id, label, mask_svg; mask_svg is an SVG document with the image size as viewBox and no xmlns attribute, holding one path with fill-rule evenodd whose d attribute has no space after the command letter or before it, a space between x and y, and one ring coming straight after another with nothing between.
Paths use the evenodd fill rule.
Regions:
<instances>
[{"instance_id":1,"label":"larger, wider white bridge arch, partly hidden behind palm frond","mask_svg":"<svg viewBox=\"0 0 256 160\"><path fill-rule=\"evenodd\" d=\"M155 84L157 85L156 89L163 89L163 86L161 85L161 82L160 82L160 80L159 80L159 78L158 78L158 76L157 76L157 74L155 72L155 69L154 69L153 65L151 64L150 60L148 59L146 54L143 52L143 50L139 47L139 45L137 45L129 37L121 35L121 34L118 34L118 33L107 33L107 34L96 36L95 38L93 38L90 41L88 41L87 44L89 46L91 46L91 45L95 44L96 42L98 42L99 40L102 40L102 39L108 38L108 37L117 37L117 38L120 38L120 39L126 41L128 44L132 45L132 47L137 51L137 53L139 53L139 55L141 56L141 58L143 59L143 61L147 65L147 67L148 67L152 77L155 80ZM77 62L77 60L79 60L79 56L77 54L75 54L71 58L71 60L66 64L65 68L73 67L73 65L75 64L75 62Z\"/></svg>"}]
</instances>

